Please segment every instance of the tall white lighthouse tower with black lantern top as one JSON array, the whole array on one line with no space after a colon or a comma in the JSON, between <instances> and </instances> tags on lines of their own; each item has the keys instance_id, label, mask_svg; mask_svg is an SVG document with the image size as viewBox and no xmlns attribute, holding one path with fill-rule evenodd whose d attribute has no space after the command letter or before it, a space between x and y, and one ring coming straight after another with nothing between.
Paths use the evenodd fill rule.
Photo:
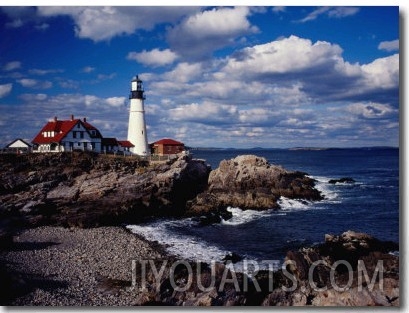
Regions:
<instances>
[{"instance_id":1,"label":"tall white lighthouse tower with black lantern top","mask_svg":"<svg viewBox=\"0 0 409 313\"><path fill-rule=\"evenodd\" d=\"M136 75L131 82L131 100L129 108L128 140L135 146L131 152L137 155L150 155L148 135L146 133L145 109L142 80Z\"/></svg>"}]
</instances>

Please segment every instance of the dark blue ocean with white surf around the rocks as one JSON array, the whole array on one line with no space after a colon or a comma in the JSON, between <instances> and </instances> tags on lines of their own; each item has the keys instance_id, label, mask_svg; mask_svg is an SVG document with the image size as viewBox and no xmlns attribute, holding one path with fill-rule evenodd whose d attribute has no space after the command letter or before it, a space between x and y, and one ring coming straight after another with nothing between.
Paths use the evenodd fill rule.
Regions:
<instances>
[{"instance_id":1,"label":"dark blue ocean with white surf around the rocks","mask_svg":"<svg viewBox=\"0 0 409 313\"><path fill-rule=\"evenodd\" d=\"M308 173L325 199L280 199L280 210L229 208L233 218L198 226L191 218L159 219L128 228L192 261L221 261L229 253L248 260L282 262L289 250L324 241L325 234L347 230L399 242L399 149L251 149L194 150L194 158L218 167L223 159L254 154L287 170ZM355 183L330 184L351 177Z\"/></svg>"}]
</instances>

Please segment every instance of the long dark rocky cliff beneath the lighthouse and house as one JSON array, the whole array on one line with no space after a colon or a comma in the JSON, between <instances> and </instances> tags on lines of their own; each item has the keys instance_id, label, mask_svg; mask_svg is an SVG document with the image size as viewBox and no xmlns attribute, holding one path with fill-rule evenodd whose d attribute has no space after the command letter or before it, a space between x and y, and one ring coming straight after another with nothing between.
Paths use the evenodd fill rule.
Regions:
<instances>
[{"instance_id":1,"label":"long dark rocky cliff beneath the lighthouse and house","mask_svg":"<svg viewBox=\"0 0 409 313\"><path fill-rule=\"evenodd\" d=\"M0 158L5 227L94 227L182 215L186 201L206 188L210 172L204 161L188 156L153 166L135 157L84 152Z\"/></svg>"}]
</instances>

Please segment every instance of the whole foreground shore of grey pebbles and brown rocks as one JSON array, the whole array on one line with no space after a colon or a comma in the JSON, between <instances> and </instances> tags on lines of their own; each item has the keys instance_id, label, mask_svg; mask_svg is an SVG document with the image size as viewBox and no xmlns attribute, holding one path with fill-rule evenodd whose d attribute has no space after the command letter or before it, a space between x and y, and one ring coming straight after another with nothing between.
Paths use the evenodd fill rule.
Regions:
<instances>
[{"instance_id":1,"label":"whole foreground shore of grey pebbles and brown rocks","mask_svg":"<svg viewBox=\"0 0 409 313\"><path fill-rule=\"evenodd\" d=\"M180 260L122 226L43 226L13 239L0 250L0 285L6 290L0 304L6 306L399 306L399 257L387 253L396 244L353 231L326 235L319 248L288 251L289 272L260 270L254 276L230 271L229 261ZM359 265L350 273L331 268L337 255L351 264L363 260L368 290L359 291ZM385 266L382 284L379 260ZM311 267L318 281L309 280ZM346 290L329 285L333 274L335 287Z\"/></svg>"}]
</instances>

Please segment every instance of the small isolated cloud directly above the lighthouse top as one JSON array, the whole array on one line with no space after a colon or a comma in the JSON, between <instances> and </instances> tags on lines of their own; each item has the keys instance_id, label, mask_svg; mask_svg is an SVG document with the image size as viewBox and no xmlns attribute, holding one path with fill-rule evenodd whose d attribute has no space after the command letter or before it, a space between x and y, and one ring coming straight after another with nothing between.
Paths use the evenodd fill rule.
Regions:
<instances>
[{"instance_id":1,"label":"small isolated cloud directly above the lighthouse top","mask_svg":"<svg viewBox=\"0 0 409 313\"><path fill-rule=\"evenodd\" d=\"M135 60L153 67L172 64L177 58L177 54L170 49L159 50L157 48L151 51L129 52L127 56L128 60Z\"/></svg>"}]
</instances>

